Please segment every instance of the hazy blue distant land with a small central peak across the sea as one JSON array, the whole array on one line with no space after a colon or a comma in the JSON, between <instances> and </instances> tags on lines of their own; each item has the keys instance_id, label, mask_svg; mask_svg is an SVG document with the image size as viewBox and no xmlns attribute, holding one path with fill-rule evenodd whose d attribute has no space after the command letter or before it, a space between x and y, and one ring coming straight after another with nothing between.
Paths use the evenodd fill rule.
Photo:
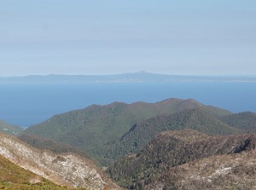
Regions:
<instances>
[{"instance_id":1,"label":"hazy blue distant land with a small central peak across the sea","mask_svg":"<svg viewBox=\"0 0 256 190\"><path fill-rule=\"evenodd\" d=\"M256 77L179 76L151 72L113 75L28 75L0 77L0 83L140 83L140 82L256 82Z\"/></svg>"}]
</instances>

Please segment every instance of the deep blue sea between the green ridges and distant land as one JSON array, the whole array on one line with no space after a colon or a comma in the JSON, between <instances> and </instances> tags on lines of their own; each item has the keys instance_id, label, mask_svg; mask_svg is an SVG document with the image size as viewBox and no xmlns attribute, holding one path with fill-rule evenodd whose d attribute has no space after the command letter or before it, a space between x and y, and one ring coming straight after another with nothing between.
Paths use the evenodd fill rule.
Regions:
<instances>
[{"instance_id":1,"label":"deep blue sea between the green ridges and distant land","mask_svg":"<svg viewBox=\"0 0 256 190\"><path fill-rule=\"evenodd\" d=\"M256 83L0 83L0 119L28 127L91 104L172 97L192 98L231 112L256 112Z\"/></svg>"}]
</instances>

